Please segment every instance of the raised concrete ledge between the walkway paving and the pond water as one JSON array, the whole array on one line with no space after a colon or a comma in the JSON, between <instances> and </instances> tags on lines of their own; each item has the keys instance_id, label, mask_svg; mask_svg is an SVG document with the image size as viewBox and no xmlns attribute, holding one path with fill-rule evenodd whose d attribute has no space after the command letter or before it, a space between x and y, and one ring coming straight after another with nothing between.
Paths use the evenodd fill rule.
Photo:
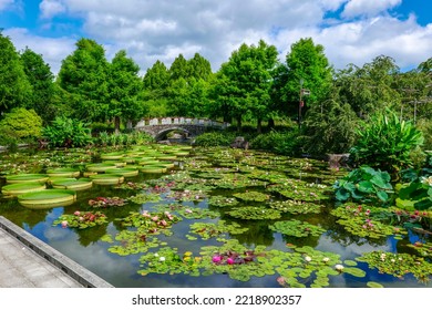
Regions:
<instances>
[{"instance_id":1,"label":"raised concrete ledge between the walkway paving and the pond water","mask_svg":"<svg viewBox=\"0 0 432 310\"><path fill-rule=\"evenodd\" d=\"M17 226L9 219L0 216L0 229L3 229L10 236L22 242L24 246L33 250L35 254L47 259L51 265L55 266L64 273L76 280L85 288L114 288L112 285L76 264L69 257L62 255L45 242L39 240L28 231Z\"/></svg>"}]
</instances>

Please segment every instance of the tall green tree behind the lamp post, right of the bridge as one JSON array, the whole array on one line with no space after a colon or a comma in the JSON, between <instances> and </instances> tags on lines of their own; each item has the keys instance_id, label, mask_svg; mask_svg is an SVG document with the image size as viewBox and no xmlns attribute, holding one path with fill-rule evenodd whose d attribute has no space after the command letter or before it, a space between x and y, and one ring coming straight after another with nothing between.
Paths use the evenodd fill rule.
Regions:
<instances>
[{"instance_id":1,"label":"tall green tree behind the lamp post, right of the bridge","mask_svg":"<svg viewBox=\"0 0 432 310\"><path fill-rule=\"evenodd\" d=\"M291 107L290 113L298 112L301 89L310 91L308 104L302 108L305 112L309 105L327 99L332 83L333 70L321 44L315 44L311 38L300 39L291 45L291 51L286 56L286 63L288 72L287 84L284 89Z\"/></svg>"}]
</instances>

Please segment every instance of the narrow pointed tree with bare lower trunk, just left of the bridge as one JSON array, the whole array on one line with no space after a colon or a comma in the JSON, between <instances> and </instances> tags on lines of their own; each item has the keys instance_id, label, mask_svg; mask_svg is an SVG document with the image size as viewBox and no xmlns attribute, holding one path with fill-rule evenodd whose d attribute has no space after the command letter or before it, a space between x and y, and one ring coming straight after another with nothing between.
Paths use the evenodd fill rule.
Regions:
<instances>
[{"instance_id":1,"label":"narrow pointed tree with bare lower trunk, just left of the bridge","mask_svg":"<svg viewBox=\"0 0 432 310\"><path fill-rule=\"evenodd\" d=\"M109 112L114 117L115 132L120 132L121 120L137 120L143 116L140 95L143 84L138 78L140 66L121 50L110 65Z\"/></svg>"}]
</instances>

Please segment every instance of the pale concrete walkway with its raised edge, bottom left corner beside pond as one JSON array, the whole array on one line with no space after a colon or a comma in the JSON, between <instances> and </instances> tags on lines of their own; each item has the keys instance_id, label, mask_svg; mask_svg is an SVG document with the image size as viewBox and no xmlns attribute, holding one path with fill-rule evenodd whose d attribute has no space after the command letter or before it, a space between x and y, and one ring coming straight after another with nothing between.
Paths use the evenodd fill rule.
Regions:
<instances>
[{"instance_id":1,"label":"pale concrete walkway with its raised edge, bottom left corner beside pond","mask_svg":"<svg viewBox=\"0 0 432 310\"><path fill-rule=\"evenodd\" d=\"M0 216L0 288L112 288Z\"/></svg>"}]
</instances>

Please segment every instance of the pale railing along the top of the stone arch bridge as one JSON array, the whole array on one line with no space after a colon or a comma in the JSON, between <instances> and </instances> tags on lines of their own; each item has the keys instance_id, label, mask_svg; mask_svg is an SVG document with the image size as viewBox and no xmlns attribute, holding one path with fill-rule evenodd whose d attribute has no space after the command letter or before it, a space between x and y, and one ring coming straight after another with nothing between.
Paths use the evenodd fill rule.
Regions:
<instances>
[{"instance_id":1,"label":"pale railing along the top of the stone arch bridge","mask_svg":"<svg viewBox=\"0 0 432 310\"><path fill-rule=\"evenodd\" d=\"M153 117L143 118L136 125L135 128L142 128L146 126L156 125L196 125L226 128L230 124L225 122L212 121L208 118L193 118L193 117Z\"/></svg>"}]
</instances>

